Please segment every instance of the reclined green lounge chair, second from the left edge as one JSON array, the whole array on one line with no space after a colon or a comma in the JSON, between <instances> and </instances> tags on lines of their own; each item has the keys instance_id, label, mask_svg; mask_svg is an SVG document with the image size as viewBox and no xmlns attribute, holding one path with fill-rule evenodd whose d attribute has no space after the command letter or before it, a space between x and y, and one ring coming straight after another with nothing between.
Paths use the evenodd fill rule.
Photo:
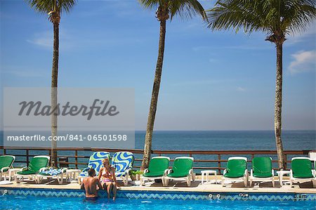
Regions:
<instances>
[{"instance_id":1,"label":"reclined green lounge chair, second from the left edge","mask_svg":"<svg viewBox=\"0 0 316 210\"><path fill-rule=\"evenodd\" d=\"M31 159L31 162L29 162L28 167L22 168L21 171L15 174L15 181L18 183L19 178L22 178L22 181L23 181L24 178L27 177L29 179L33 179L36 182L38 182L37 173L39 173L39 171L46 170L49 159L50 157L46 155L34 156Z\"/></svg>"}]
</instances>

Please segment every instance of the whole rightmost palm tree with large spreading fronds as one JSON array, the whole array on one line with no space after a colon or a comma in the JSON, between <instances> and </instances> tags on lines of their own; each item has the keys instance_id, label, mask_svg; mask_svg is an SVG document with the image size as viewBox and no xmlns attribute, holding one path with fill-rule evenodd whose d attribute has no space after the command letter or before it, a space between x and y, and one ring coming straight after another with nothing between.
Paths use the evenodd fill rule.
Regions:
<instances>
[{"instance_id":1,"label":"whole rightmost palm tree with large spreading fronds","mask_svg":"<svg viewBox=\"0 0 316 210\"><path fill-rule=\"evenodd\" d=\"M286 167L282 131L282 46L286 36L302 32L316 17L315 0L218 0L206 11L211 29L243 28L246 33L266 32L265 41L277 49L275 87L275 142L279 169Z\"/></svg>"}]
</instances>

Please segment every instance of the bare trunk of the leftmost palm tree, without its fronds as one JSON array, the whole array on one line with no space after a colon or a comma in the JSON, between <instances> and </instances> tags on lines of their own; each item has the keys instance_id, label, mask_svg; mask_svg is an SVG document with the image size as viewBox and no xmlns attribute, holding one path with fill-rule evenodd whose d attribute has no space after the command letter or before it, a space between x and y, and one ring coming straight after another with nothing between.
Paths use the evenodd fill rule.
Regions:
<instances>
[{"instance_id":1,"label":"bare trunk of the leftmost palm tree, without its fronds","mask_svg":"<svg viewBox=\"0 0 316 210\"><path fill-rule=\"evenodd\" d=\"M51 108L57 106L58 96L58 57L59 57L59 22L53 22L54 44L53 44L53 67L51 70ZM51 166L57 166L57 141L53 140L57 136L57 113L51 115Z\"/></svg>"}]
</instances>

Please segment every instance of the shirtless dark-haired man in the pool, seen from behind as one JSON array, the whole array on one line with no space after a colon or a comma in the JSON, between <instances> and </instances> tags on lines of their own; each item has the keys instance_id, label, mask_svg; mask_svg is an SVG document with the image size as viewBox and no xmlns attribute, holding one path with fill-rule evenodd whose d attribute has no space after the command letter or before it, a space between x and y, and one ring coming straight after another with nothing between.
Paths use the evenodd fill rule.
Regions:
<instances>
[{"instance_id":1,"label":"shirtless dark-haired man in the pool, seen from behind","mask_svg":"<svg viewBox=\"0 0 316 210\"><path fill-rule=\"evenodd\" d=\"M98 178L95 178L95 176L96 171L88 169L88 177L82 181L81 190L86 190L86 198L98 198L98 189L102 189Z\"/></svg>"}]
</instances>

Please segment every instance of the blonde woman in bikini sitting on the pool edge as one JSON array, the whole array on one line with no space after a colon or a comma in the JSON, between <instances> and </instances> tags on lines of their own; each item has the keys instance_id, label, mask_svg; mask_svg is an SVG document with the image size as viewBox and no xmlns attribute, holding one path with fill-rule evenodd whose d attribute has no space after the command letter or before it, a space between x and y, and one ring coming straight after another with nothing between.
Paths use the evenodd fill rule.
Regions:
<instances>
[{"instance_id":1,"label":"blonde woman in bikini sitting on the pool edge","mask_svg":"<svg viewBox=\"0 0 316 210\"><path fill-rule=\"evenodd\" d=\"M115 169L110 166L110 160L107 158L103 159L102 163L104 167L100 169L98 179L103 189L107 191L107 198L110 199L110 194L113 191L113 200L115 200L117 188L119 188L115 178Z\"/></svg>"}]
</instances>

